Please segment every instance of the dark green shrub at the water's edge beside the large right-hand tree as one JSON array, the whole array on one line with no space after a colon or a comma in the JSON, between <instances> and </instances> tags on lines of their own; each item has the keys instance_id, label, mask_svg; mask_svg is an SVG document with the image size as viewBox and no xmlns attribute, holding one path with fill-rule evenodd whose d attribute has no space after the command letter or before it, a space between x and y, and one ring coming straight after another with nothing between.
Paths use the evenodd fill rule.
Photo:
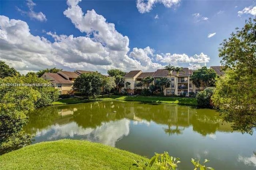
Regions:
<instances>
[{"instance_id":1,"label":"dark green shrub at the water's edge beside the large right-hand tree","mask_svg":"<svg viewBox=\"0 0 256 170\"><path fill-rule=\"evenodd\" d=\"M211 104L211 97L213 94L213 87L208 87L206 89L204 89L204 91L199 91L196 94L196 101L197 101L197 105L198 107L202 107L202 108L212 108L212 104Z\"/></svg>"}]
</instances>

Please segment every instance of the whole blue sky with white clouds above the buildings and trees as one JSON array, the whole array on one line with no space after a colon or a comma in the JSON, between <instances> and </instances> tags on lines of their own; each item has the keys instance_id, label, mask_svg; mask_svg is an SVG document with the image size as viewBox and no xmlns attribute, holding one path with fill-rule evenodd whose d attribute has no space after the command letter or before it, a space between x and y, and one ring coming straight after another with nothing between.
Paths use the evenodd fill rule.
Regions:
<instances>
[{"instance_id":1,"label":"whole blue sky with white clouds above the buildings and trees","mask_svg":"<svg viewBox=\"0 0 256 170\"><path fill-rule=\"evenodd\" d=\"M220 65L218 47L256 15L255 1L0 1L0 59L22 73L168 63Z\"/></svg>"}]
</instances>

